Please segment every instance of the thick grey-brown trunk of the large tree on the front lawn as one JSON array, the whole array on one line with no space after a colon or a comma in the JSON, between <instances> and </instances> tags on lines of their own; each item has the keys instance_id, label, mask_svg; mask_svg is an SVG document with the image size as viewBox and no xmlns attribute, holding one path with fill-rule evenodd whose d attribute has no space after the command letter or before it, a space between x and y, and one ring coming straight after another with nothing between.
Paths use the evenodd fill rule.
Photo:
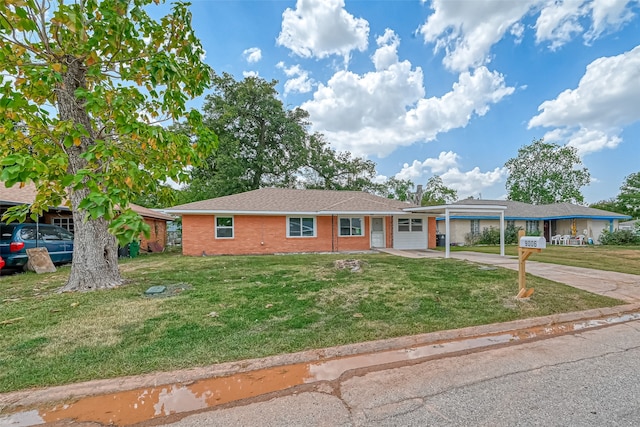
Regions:
<instances>
[{"instance_id":1,"label":"thick grey-brown trunk of the large tree on the front lawn","mask_svg":"<svg viewBox=\"0 0 640 427\"><path fill-rule=\"evenodd\" d=\"M67 149L67 171L76 174L87 166L81 155L95 143L95 134L82 100L74 94L76 89L86 88L86 69L73 56L65 57L65 65L67 69L63 73L63 81L56 90L60 118L81 125L89 132L89 136L83 137L79 145ZM123 283L118 271L117 242L109 233L109 224L103 218L89 218L87 212L79 208L80 202L88 194L87 188L69 189L74 222L74 249L71 275L62 291L112 288Z\"/></svg>"}]
</instances>

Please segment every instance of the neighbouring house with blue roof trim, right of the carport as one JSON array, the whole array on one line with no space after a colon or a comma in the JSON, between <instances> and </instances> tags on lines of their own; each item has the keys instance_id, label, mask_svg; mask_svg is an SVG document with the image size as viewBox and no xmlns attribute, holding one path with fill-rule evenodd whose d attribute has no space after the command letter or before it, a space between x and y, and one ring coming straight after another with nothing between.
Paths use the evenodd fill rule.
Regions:
<instances>
[{"instance_id":1,"label":"neighbouring house with blue roof trim, right of the carport","mask_svg":"<svg viewBox=\"0 0 640 427\"><path fill-rule=\"evenodd\" d=\"M619 221L630 217L601 209L594 209L571 203L555 203L550 205L531 205L510 200L460 200L456 205L484 206L502 205L505 227L520 227L527 234L544 236L547 242L554 235L585 235L598 243L603 230L613 231L618 228ZM450 217L450 242L464 244L470 234L480 234L484 228L499 228L497 215L479 215L475 213L455 214ZM444 233L444 218L437 219L438 233Z\"/></svg>"}]
</instances>

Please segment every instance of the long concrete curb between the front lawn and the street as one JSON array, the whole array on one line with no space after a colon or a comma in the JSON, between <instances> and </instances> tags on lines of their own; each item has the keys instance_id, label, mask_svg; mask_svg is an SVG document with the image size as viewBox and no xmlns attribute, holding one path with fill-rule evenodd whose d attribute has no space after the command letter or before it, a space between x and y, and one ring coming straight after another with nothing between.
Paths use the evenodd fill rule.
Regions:
<instances>
[{"instance_id":1,"label":"long concrete curb between the front lawn and the street","mask_svg":"<svg viewBox=\"0 0 640 427\"><path fill-rule=\"evenodd\" d=\"M461 351L482 351L497 345L505 345L511 342L524 343L540 338L577 332L587 328L598 328L608 325L606 318L618 317L617 323L624 323L640 318L640 304L626 304L616 307L591 309L572 313L561 313L550 316L521 319L505 323L472 326L462 329L454 329L440 332L432 332L420 335L390 338L378 341L369 341L357 344L342 345L325 349L308 350L298 353L277 355L260 359L249 359L237 362L227 362L200 368L178 370L173 372L159 372L131 377L115 379L94 380L83 383L68 384L43 389L31 389L0 394L0 414L22 411L41 406L51 406L56 402L76 401L82 398L98 395L113 394L132 391L136 389L162 387L175 384L190 384L199 380L228 377L234 374L246 374L252 371L269 368L286 367L304 363L324 363L340 358L354 358L355 356L369 356L383 352L408 352L415 347L440 348L441 350L412 357L413 362L419 362L434 357L447 357L459 354ZM636 312L637 316L629 316ZM627 318L624 317L627 315ZM602 319L602 322L597 322ZM582 322L582 323L581 323ZM577 325L563 326L571 323ZM554 325L560 325L553 328ZM508 340L492 340L491 337L512 337ZM458 345L460 341L484 339L482 344L464 347ZM489 338L489 339L487 339ZM479 341L479 340L475 340ZM443 345L445 344L445 345ZM451 345L449 345L451 344ZM347 365L349 365L347 363ZM370 365L369 367L384 366L384 363ZM347 368L353 370L355 368ZM343 371L344 373L346 371ZM340 374L341 375L341 374ZM340 376L338 375L338 376ZM337 378L337 377L336 377ZM334 378L335 379L335 378ZM315 382L327 380L316 378Z\"/></svg>"}]
</instances>

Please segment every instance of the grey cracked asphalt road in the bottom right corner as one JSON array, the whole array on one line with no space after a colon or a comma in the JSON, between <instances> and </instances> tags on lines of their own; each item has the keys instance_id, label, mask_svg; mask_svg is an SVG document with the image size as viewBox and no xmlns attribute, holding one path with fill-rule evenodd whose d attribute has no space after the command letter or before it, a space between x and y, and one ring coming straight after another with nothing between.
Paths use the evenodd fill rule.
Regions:
<instances>
[{"instance_id":1,"label":"grey cracked asphalt road in the bottom right corner","mask_svg":"<svg viewBox=\"0 0 640 427\"><path fill-rule=\"evenodd\" d=\"M184 426L637 426L640 321L364 374Z\"/></svg>"}]
</instances>

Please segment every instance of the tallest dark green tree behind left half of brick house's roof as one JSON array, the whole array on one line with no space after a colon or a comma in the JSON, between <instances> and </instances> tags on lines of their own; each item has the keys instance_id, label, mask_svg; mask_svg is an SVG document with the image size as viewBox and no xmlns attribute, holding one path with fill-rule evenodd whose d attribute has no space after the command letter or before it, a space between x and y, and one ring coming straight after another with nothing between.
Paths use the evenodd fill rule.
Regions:
<instances>
[{"instance_id":1,"label":"tallest dark green tree behind left half of brick house's roof","mask_svg":"<svg viewBox=\"0 0 640 427\"><path fill-rule=\"evenodd\" d=\"M198 168L187 192L211 198L261 187L289 187L307 157L307 117L288 110L275 86L260 77L236 81L215 75L206 97L204 122L219 137L219 147Z\"/></svg>"}]
</instances>

